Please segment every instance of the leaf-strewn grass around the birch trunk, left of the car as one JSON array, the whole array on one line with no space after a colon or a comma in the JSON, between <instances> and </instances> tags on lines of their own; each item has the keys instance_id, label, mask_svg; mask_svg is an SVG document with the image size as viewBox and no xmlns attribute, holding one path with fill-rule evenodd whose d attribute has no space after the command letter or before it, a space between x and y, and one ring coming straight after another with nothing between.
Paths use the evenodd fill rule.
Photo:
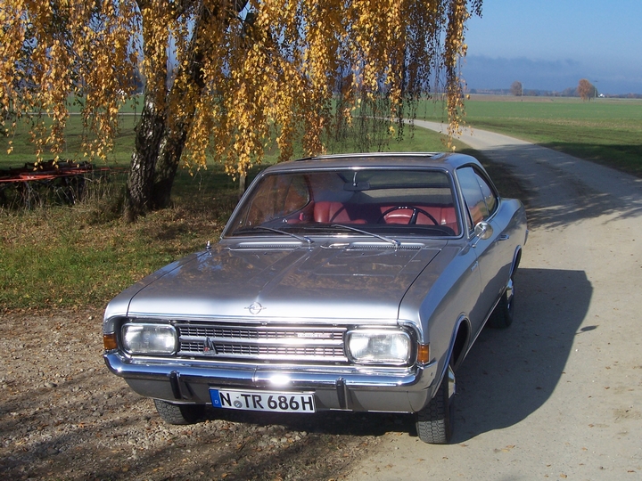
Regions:
<instances>
[{"instance_id":1,"label":"leaf-strewn grass around the birch trunk, left of the car","mask_svg":"<svg viewBox=\"0 0 642 481\"><path fill-rule=\"evenodd\" d=\"M123 128L108 159L111 167L128 165L134 144L131 119L125 118L129 127ZM70 119L69 128L73 135L79 134L82 126L77 117ZM14 153L7 156L6 140L0 140L0 168L33 162L27 132L16 135L14 144ZM70 139L68 157L74 158L78 145ZM393 140L389 145L394 151L443 148L440 135L419 129L402 143ZM275 160L276 152L270 152L264 165ZM204 249L208 240L218 240L238 200L238 184L221 166L210 164L192 172L179 169L173 206L127 225L119 217L124 182L124 174L87 182L83 200L75 205L50 196L53 205L36 199L30 208L0 207L0 313L104 306L144 275Z\"/></svg>"}]
</instances>

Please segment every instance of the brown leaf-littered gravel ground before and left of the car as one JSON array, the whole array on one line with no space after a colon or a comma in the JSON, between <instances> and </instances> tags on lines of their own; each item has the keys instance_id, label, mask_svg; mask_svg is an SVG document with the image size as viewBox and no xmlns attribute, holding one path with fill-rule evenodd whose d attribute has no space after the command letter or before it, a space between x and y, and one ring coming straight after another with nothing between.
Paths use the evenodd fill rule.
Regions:
<instances>
[{"instance_id":1,"label":"brown leaf-littered gravel ground before and left of the car","mask_svg":"<svg viewBox=\"0 0 642 481\"><path fill-rule=\"evenodd\" d=\"M2 479L341 479L403 416L206 412L170 426L103 363L102 312L0 315Z\"/></svg>"}]
</instances>

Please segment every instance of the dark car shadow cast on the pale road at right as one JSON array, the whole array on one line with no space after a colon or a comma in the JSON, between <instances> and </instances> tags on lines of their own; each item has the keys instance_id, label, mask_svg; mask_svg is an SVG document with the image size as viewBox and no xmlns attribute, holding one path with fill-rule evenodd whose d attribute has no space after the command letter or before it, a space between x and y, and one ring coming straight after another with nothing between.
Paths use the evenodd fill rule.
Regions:
<instances>
[{"instance_id":1,"label":"dark car shadow cast on the pale road at right","mask_svg":"<svg viewBox=\"0 0 642 481\"><path fill-rule=\"evenodd\" d=\"M485 329L457 371L454 443L506 428L537 411L564 379L593 288L586 273L520 269L515 321Z\"/></svg>"}]
</instances>

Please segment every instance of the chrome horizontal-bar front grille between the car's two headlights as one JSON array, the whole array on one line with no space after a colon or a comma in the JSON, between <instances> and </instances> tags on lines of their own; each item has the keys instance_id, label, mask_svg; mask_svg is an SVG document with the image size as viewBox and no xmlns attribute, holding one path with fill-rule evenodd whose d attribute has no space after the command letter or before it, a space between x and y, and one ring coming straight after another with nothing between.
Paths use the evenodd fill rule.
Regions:
<instances>
[{"instance_id":1,"label":"chrome horizontal-bar front grille between the car's two headlights","mask_svg":"<svg viewBox=\"0 0 642 481\"><path fill-rule=\"evenodd\" d=\"M346 363L344 327L175 324L178 355L248 361Z\"/></svg>"}]
</instances>

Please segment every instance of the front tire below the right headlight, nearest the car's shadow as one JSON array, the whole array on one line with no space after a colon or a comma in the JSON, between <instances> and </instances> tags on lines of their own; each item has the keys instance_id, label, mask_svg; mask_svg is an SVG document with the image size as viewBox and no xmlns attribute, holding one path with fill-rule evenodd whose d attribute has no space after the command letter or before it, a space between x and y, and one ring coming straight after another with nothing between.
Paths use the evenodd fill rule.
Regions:
<instances>
[{"instance_id":1,"label":"front tire below the right headlight, nearest the car's shadow","mask_svg":"<svg viewBox=\"0 0 642 481\"><path fill-rule=\"evenodd\" d=\"M416 413L417 436L424 443L449 444L453 432L455 390L455 373L449 365L437 394L424 409Z\"/></svg>"}]
</instances>

